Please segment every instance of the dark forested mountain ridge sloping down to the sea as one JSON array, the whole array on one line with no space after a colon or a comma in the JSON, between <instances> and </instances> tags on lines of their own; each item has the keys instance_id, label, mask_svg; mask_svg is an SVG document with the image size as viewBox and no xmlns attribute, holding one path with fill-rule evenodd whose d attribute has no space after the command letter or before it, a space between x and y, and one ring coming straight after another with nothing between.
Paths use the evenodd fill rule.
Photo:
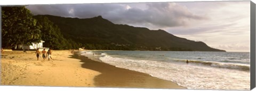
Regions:
<instances>
[{"instance_id":1,"label":"dark forested mountain ridge sloping down to the sea","mask_svg":"<svg viewBox=\"0 0 256 91\"><path fill-rule=\"evenodd\" d=\"M150 30L127 24L114 24L101 15L93 18L64 18L45 16L56 24L63 36L83 44L87 49L115 49L141 51L222 51L203 42L195 42L164 30Z\"/></svg>"}]
</instances>

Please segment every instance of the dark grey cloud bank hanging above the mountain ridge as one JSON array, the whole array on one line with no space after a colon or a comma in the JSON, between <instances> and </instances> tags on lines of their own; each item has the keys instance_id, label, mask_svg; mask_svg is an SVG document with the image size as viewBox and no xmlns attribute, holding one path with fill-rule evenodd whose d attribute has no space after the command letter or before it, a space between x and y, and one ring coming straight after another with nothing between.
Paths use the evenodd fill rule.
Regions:
<instances>
[{"instance_id":1,"label":"dark grey cloud bank hanging above the mountain ridge","mask_svg":"<svg viewBox=\"0 0 256 91\"><path fill-rule=\"evenodd\" d=\"M137 3L136 5L147 8L141 9L133 3L29 5L27 8L34 14L76 18L102 15L103 18L114 23L155 28L185 26L190 20L206 19L176 3Z\"/></svg>"}]
</instances>

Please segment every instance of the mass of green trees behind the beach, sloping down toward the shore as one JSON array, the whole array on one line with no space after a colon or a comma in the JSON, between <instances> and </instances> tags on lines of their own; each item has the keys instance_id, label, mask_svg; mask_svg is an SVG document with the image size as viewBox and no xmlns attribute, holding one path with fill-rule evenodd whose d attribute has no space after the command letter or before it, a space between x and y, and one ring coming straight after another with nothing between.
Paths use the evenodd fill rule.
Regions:
<instances>
[{"instance_id":1,"label":"mass of green trees behind the beach, sloping down toward the shore","mask_svg":"<svg viewBox=\"0 0 256 91\"><path fill-rule=\"evenodd\" d=\"M45 16L33 16L25 6L2 7L2 46L38 43L53 49L79 48L82 44L65 39L56 24Z\"/></svg>"}]
</instances>

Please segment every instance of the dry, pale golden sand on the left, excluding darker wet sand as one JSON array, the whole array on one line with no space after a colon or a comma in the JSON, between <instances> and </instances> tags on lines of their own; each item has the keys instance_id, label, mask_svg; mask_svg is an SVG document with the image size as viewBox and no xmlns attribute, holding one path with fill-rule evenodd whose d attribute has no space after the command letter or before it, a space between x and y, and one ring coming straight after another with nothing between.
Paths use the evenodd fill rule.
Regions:
<instances>
[{"instance_id":1,"label":"dry, pale golden sand on the left, excluding darker wet sand","mask_svg":"<svg viewBox=\"0 0 256 91\"><path fill-rule=\"evenodd\" d=\"M4 51L1 56L1 85L94 87L100 73L81 68L69 51L53 51L52 60L36 59L34 51Z\"/></svg>"}]
</instances>

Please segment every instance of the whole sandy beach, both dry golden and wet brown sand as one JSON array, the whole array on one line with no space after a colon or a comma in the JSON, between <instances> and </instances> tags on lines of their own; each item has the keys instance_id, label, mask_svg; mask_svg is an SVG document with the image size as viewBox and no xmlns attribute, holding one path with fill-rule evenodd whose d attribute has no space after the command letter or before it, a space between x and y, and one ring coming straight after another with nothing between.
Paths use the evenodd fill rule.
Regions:
<instances>
[{"instance_id":1,"label":"whole sandy beach, both dry golden and wet brown sand","mask_svg":"<svg viewBox=\"0 0 256 91\"><path fill-rule=\"evenodd\" d=\"M34 51L4 51L1 85L186 89L146 73L117 68L69 51L36 60Z\"/></svg>"}]
</instances>

